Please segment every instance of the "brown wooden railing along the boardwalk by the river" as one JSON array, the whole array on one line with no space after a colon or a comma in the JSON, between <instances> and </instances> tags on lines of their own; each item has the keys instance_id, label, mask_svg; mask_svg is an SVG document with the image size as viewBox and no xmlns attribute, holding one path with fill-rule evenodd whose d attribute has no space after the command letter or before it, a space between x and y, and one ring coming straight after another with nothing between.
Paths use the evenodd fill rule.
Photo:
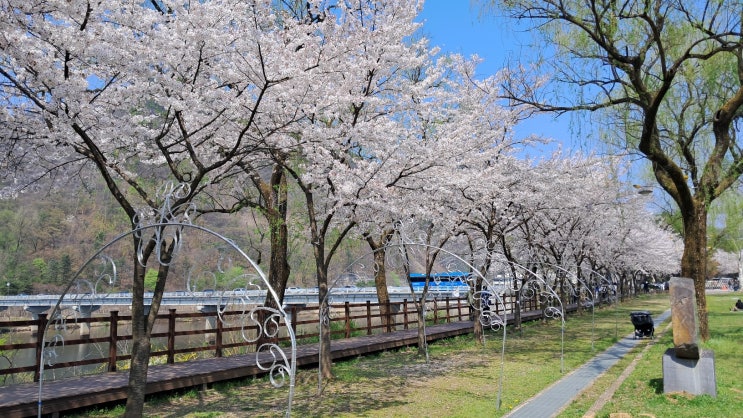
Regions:
<instances>
[{"instance_id":1,"label":"brown wooden railing along the boardwalk by the river","mask_svg":"<svg viewBox=\"0 0 743 418\"><path fill-rule=\"evenodd\" d=\"M495 301L494 301L495 302ZM518 305L515 301L507 302L507 306L497 303L491 309L499 314L513 314ZM523 311L536 310L535 300L522 301ZM386 318L383 318L381 312ZM402 303L390 303L387 309L380 309L380 305L367 301L366 303L349 303L332 305L330 307L331 338L349 338L355 335L372 335L375 333L392 332L400 329L409 329L418 326L418 315L415 304L410 301ZM315 306L290 306L287 313L291 315L291 326L296 335L298 344L317 342L319 339L318 307ZM257 327L246 326L239 321L243 311L227 311L222 313L222 320L216 319L215 313L202 312L176 312L169 309L167 313L157 316L155 330L151 335L153 351L150 355L151 361L166 362L168 364L180 360L188 360L194 356L222 357L229 350L234 353L252 352L255 350L255 342L246 341L242 335L255 335ZM448 323L453 321L466 321L471 319L472 310L466 298L433 300L429 302L426 312L426 321L433 324ZM0 363L0 377L5 379L10 375L16 375L14 381L39 380L39 365L43 354L42 338L39 330L47 327L48 318L46 314L39 315L36 320L14 320L0 321L0 331L12 331L26 329L31 331L31 342L0 344L0 362L5 359L6 364ZM203 322L205 326L196 329L184 329L179 324L189 324L185 328L194 328L194 324ZM65 349L79 347L81 345L97 345L98 356L90 358L75 358L59 361L45 365L47 371L75 368L80 366L98 366L95 372L113 372L120 366L126 367L126 362L131 358L128 350L122 349L131 342L131 315L120 315L118 311L111 311L108 315L93 316L91 318L75 318L69 321L69 325L79 327L77 335L64 339ZM285 327L285 324L280 324ZM55 328L52 324L51 329ZM100 328L107 328L105 335L100 335ZM97 332L91 332L98 329ZM85 330L85 331L83 331ZM97 336L93 336L96 334ZM0 334L1 335L1 334ZM188 344L185 338L191 337L199 341L198 344ZM203 336L200 338L199 336ZM47 339L49 337L47 336ZM289 344L289 334L284 331L274 339L279 344ZM178 344L177 344L178 342ZM2 339L0 339L2 343ZM107 346L107 347L106 347ZM84 348L84 347L83 347ZM35 350L35 361L33 364L18 365L14 363L14 354L19 350ZM25 358L30 355L26 352ZM228 353L229 354L229 353ZM160 360L158 360L160 359ZM25 374L22 378L18 375ZM45 378L46 379L46 378Z\"/></svg>"}]
</instances>

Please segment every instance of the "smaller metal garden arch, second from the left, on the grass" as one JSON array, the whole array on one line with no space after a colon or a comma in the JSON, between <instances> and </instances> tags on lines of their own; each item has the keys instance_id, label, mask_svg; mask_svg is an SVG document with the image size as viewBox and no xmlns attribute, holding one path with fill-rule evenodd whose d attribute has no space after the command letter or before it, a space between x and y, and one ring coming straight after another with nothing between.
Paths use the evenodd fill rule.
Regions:
<instances>
[{"instance_id":1,"label":"smaller metal garden arch, second from the left, on the grass","mask_svg":"<svg viewBox=\"0 0 743 418\"><path fill-rule=\"evenodd\" d=\"M372 252L362 255L361 257L358 257L356 260L354 260L352 263L349 264L349 266L346 268L345 271L353 272L353 274L355 274L357 277L363 277L364 270L369 269L369 266L361 262L361 260L363 260L365 257L368 257L380 251L384 251L386 254L390 254L388 250L396 250L397 254L403 254L403 257L401 257L400 260L406 260L409 257L409 251L414 248L417 248L420 250L426 250L426 251L428 250L440 251L447 257L450 257L452 260L455 260L456 262L460 263L463 267L468 268L470 270L470 274L466 276L466 281L468 284L470 284L470 289L473 288L472 285L474 281L478 278L481 279L484 284L483 289L488 289L488 288L494 289L495 288L494 283L492 283L490 279L483 276L479 271L477 271L477 269L475 269L469 262L461 258L459 255L452 253L448 250L445 250L443 248L435 247L433 245L420 243L420 242L389 243L383 246L382 248L377 249L376 251L372 251ZM409 262L409 259L406 262ZM449 265L449 267L451 267L451 263L447 263L447 264ZM389 267L388 264L385 264L385 266L386 268ZM372 273L376 273L376 270L378 268L379 266L377 266L376 264L372 264L372 267L371 267ZM407 269L409 271L409 265ZM325 324L326 326L329 324L329 321L330 321L329 311L328 311L328 302L331 300L330 298L332 298L331 289L335 288L339 280L340 280L340 277L336 278L332 282L332 284L328 286L328 292L326 293L326 300L320 301L321 309L319 312L319 315L320 315L319 320L322 324ZM486 295L486 292L487 292L487 295ZM410 287L410 293L413 298L417 297L415 292L412 289L412 286ZM476 295L472 295L471 303L482 304L487 300L492 301L492 299L489 299L489 298L494 297L498 301L498 303L500 303L501 306L505 306L503 299L501 298L500 295L497 294L497 292L488 292L487 290L481 290L481 291L478 291L477 293L478 294ZM431 294L431 296L435 297L434 294ZM427 302L428 302L428 299L421 301L421 303L424 304L424 312L423 312L424 315L425 315L425 303ZM500 353L500 357L501 357L500 377L499 377L499 382L498 382L498 394L497 394L497 400L496 400L496 407L497 409L500 409L501 399L502 399L502 394L503 394L503 386L504 386L504 376L505 376L505 347L506 347L506 335L507 335L506 334L507 318L505 314L501 316L497 312L494 312L492 310L486 311L484 309L479 309L479 311L480 311L480 316L478 320L484 327L489 327L490 329L494 331L502 332L501 353ZM421 325L424 327L423 329L425 332L425 321L423 321L423 324ZM322 333L322 328L323 327L321 326L320 333ZM322 344L322 341L323 339L321 335L320 344ZM322 352L322 349L320 350L320 352ZM427 348L426 348L426 354L427 354ZM319 364L322 364L322 362L319 361ZM322 392L322 371L318 370L318 394L321 392Z\"/></svg>"}]
</instances>

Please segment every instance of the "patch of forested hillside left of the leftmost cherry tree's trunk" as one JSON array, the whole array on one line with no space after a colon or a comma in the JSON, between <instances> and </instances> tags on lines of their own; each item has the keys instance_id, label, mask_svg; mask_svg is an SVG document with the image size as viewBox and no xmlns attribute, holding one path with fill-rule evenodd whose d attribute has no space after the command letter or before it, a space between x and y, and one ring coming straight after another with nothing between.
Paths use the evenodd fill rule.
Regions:
<instances>
[{"instance_id":1,"label":"patch of forested hillside left of the leftmost cherry tree's trunk","mask_svg":"<svg viewBox=\"0 0 743 418\"><path fill-rule=\"evenodd\" d=\"M0 277L10 293L53 292L127 228L104 190L82 188L2 200L0 219Z\"/></svg>"}]
</instances>

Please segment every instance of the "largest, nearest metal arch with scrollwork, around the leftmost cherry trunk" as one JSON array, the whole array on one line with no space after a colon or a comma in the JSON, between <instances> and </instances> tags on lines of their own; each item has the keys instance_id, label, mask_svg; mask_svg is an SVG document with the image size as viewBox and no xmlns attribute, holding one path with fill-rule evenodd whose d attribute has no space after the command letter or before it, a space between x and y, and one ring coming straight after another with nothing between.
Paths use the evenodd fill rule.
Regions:
<instances>
[{"instance_id":1,"label":"largest, nearest metal arch with scrollwork, around the leftmost cherry trunk","mask_svg":"<svg viewBox=\"0 0 743 418\"><path fill-rule=\"evenodd\" d=\"M256 300L249 300L244 296L230 299L226 301L224 305L220 303L220 306L226 307L228 303L237 303L243 306L242 319L242 332L241 335L247 342L257 342L261 338L265 338L266 341L274 341L273 337L276 337L279 331L279 325L283 319L287 335L291 341L290 352L282 349L278 343L267 342L262 343L256 348L255 358L256 365L261 370L265 371L274 387L288 386L288 399L286 406L286 416L291 416L291 406L294 397L295 390L295 377L296 377L296 336L294 334L293 327L291 326L292 318L288 315L282 304L276 291L271 287L267 276L258 264L253 261L239 246L237 246L232 240L214 232L210 229L194 225L191 223L189 214L192 212L193 206L189 203L183 208L177 208L172 206L173 202L185 193L185 186L173 187L171 185L165 185L161 192L164 192L163 206L157 211L154 221L143 224L148 216L139 216L137 218L137 224L131 231L123 233L114 238L109 243L102 246L93 256L91 256L75 273L72 279L68 282L67 286L63 290L60 298L57 300L53 309L50 312L50 320L47 322L46 327L40 332L39 338L42 341L41 357L42 361L39 365L39 384L38 384L38 416L42 415L42 400L43 400L43 388L44 388L44 368L46 365L53 365L54 360L57 357L57 349L64 346L64 335L57 332L51 337L48 336L48 331L54 327L55 330L65 330L67 328L67 322L78 318L79 311L82 311L86 305L86 300L91 300L93 296L99 294L100 290L106 286L114 285L118 279L118 272L116 263L113 258L106 255L104 252L110 249L113 245L118 242L122 242L127 237L136 237L140 241L140 246L136 249L137 261L144 265L143 253L142 253L142 234L145 231L153 232L153 240L155 241L156 249L156 262L159 265L168 265L177 259L177 253L184 243L184 232L185 231L200 231L205 233L207 236L215 238L218 242L224 245L224 248L231 249L237 252L239 257L247 261L247 265L250 266L255 273L252 275L243 275L242 279L249 278L248 283L256 288L260 288L261 283L265 285L265 291L275 301L278 308L266 307L261 304L257 304ZM179 219L178 214L181 215L182 219ZM169 261L163 257L160 253L160 249L164 246L161 245L166 240L173 240L172 243L176 246L176 250L169 257ZM102 270L95 275L93 280L82 278L83 272L91 266L96 260L102 260ZM224 262L225 259L220 258L220 262ZM110 268L107 268L110 266ZM217 266L217 270L223 270L222 265ZM192 280L189 277L188 281L189 289L191 289ZM78 293L74 296L70 293L73 288L78 289ZM81 293L82 290L85 290ZM72 296L72 298L70 297ZM63 302L69 304L70 302L76 303L78 313L68 315L67 308L63 309ZM91 303L92 302L88 302ZM250 306L249 306L250 305ZM224 321L222 316L223 308L218 309L218 318L220 321ZM259 315L259 312L261 313ZM248 326L255 326L258 331L254 337L248 335L245 332ZM288 385L287 385L288 383Z\"/></svg>"}]
</instances>

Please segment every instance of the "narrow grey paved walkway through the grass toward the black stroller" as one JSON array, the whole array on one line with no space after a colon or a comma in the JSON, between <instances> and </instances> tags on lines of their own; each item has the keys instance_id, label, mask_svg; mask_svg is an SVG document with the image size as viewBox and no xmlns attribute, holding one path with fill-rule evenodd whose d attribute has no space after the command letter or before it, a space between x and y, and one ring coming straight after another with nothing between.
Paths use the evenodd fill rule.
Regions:
<instances>
[{"instance_id":1,"label":"narrow grey paved walkway through the grass toward the black stroller","mask_svg":"<svg viewBox=\"0 0 743 418\"><path fill-rule=\"evenodd\" d=\"M653 318L656 330L671 316L668 310ZM597 355L588 363L558 380L542 392L516 407L507 418L548 418L557 416L584 389L593 384L611 366L616 364L640 339L634 339L634 332L627 335L608 350Z\"/></svg>"}]
</instances>

